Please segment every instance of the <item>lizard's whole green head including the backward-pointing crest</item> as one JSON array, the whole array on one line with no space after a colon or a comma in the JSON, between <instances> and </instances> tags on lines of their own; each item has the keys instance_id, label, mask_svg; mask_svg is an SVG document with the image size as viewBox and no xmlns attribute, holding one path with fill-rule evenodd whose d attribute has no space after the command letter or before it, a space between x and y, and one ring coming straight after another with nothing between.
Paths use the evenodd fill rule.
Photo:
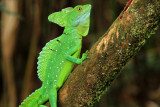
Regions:
<instances>
[{"instance_id":1,"label":"lizard's whole green head including the backward-pointing crest","mask_svg":"<svg viewBox=\"0 0 160 107\"><path fill-rule=\"evenodd\" d=\"M68 7L49 15L48 20L61 27L71 27L80 35L86 36L89 31L91 5Z\"/></svg>"}]
</instances>

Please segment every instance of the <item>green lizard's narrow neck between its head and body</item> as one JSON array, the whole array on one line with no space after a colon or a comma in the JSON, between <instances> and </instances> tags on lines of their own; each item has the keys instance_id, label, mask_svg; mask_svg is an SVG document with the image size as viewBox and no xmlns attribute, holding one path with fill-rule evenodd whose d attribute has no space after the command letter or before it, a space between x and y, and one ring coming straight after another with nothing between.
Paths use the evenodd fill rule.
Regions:
<instances>
[{"instance_id":1,"label":"green lizard's narrow neck between its head and body","mask_svg":"<svg viewBox=\"0 0 160 107\"><path fill-rule=\"evenodd\" d=\"M74 38L82 38L82 35L80 35L77 32L77 29L75 27L71 27L71 26L66 26L63 31L63 34L68 34L70 36L73 36Z\"/></svg>"}]
</instances>

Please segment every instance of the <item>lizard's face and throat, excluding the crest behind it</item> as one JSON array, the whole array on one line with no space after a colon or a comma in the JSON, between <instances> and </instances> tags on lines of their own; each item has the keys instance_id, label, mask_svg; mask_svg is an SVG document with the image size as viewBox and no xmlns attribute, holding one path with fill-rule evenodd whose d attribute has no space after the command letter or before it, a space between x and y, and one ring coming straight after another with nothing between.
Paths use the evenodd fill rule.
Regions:
<instances>
[{"instance_id":1,"label":"lizard's face and throat, excluding the crest behind it","mask_svg":"<svg viewBox=\"0 0 160 107\"><path fill-rule=\"evenodd\" d=\"M86 36L90 25L91 5L78 5L69 14L68 24L76 28L77 32Z\"/></svg>"}]
</instances>

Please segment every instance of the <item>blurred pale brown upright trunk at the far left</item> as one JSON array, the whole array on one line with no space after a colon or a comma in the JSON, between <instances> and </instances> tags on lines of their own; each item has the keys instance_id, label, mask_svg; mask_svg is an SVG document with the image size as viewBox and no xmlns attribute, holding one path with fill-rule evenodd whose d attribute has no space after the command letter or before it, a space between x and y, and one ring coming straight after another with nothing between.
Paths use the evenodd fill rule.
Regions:
<instances>
[{"instance_id":1,"label":"blurred pale brown upright trunk at the far left","mask_svg":"<svg viewBox=\"0 0 160 107\"><path fill-rule=\"evenodd\" d=\"M16 36L19 26L19 2L16 0L2 0L5 9L1 14L1 45L2 45L2 74L3 95L2 107L16 107L16 84L14 78L13 53L15 50Z\"/></svg>"}]
</instances>

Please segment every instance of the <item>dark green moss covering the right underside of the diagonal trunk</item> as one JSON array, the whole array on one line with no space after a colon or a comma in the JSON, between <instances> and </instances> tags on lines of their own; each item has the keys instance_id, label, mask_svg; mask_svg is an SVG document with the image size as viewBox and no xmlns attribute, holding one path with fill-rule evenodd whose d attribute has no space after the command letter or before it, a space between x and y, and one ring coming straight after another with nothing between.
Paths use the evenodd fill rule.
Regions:
<instances>
[{"instance_id":1,"label":"dark green moss covering the right underside of the diagonal trunk","mask_svg":"<svg viewBox=\"0 0 160 107\"><path fill-rule=\"evenodd\" d=\"M148 3L149 1L144 1L146 2L144 3L138 0L135 2L136 4L131 6L127 12L128 14L124 14L123 17L128 19L127 21L129 23L124 21L122 25L118 25L118 27L115 28L111 35L113 36L114 43L109 43L107 54L102 53L99 55L100 58L96 66L102 71L98 74L99 77L95 84L95 90L91 92L95 94L93 94L94 96L91 98L92 102L89 102L88 106L92 106L97 100L99 101L101 95L108 90L110 84L120 74L121 69L128 60L137 54L140 48L145 44L146 39L154 34L158 28L160 15L155 14L154 3ZM117 23L119 23L118 21ZM128 26L132 28L127 28ZM112 25L111 28L113 27L116 26ZM117 29L119 38L116 38L115 35ZM104 46L103 44L101 50L104 50ZM108 58L110 58L110 60L108 60ZM117 59L112 60L112 58ZM106 60L112 60L113 62L107 62Z\"/></svg>"}]
</instances>

